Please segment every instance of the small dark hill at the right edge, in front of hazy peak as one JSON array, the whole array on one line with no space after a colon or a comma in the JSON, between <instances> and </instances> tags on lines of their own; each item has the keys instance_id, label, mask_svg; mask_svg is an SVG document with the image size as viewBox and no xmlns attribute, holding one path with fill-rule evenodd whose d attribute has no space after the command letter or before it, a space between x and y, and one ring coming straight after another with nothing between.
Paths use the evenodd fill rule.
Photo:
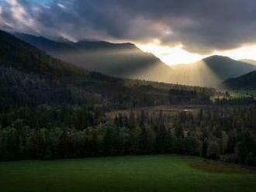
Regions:
<instances>
[{"instance_id":1,"label":"small dark hill at the right edge, in front of hazy peak","mask_svg":"<svg viewBox=\"0 0 256 192\"><path fill-rule=\"evenodd\" d=\"M240 77L224 81L222 87L228 89L256 89L256 70Z\"/></svg>"}]
</instances>

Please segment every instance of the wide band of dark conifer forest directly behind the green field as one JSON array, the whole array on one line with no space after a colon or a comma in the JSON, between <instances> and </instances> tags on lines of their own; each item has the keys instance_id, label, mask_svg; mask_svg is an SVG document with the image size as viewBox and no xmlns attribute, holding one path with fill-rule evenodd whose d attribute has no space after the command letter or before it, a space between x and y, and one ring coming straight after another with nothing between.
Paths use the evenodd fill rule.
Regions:
<instances>
[{"instance_id":1,"label":"wide band of dark conifer forest directly behind the green field","mask_svg":"<svg viewBox=\"0 0 256 192\"><path fill-rule=\"evenodd\" d=\"M0 114L0 159L179 153L256 165L256 106L196 114L141 111L106 118L86 107L20 108Z\"/></svg>"}]
</instances>

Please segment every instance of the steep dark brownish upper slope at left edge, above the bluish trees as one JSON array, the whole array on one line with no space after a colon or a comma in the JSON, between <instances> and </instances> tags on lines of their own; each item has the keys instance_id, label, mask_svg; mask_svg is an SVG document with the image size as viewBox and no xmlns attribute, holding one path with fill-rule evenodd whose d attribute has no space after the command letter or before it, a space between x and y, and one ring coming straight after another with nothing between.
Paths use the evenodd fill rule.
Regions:
<instances>
[{"instance_id":1,"label":"steep dark brownish upper slope at left edge, above the bluish trees","mask_svg":"<svg viewBox=\"0 0 256 192\"><path fill-rule=\"evenodd\" d=\"M48 76L84 75L85 70L50 57L34 46L0 30L0 66Z\"/></svg>"}]
</instances>

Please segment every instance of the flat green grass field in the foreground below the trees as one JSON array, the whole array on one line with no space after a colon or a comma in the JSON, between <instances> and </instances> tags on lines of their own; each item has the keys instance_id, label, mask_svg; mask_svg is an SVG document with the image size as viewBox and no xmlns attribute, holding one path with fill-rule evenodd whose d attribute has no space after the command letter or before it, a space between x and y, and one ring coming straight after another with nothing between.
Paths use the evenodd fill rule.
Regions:
<instances>
[{"instance_id":1,"label":"flat green grass field in the foreground below the trees","mask_svg":"<svg viewBox=\"0 0 256 192\"><path fill-rule=\"evenodd\" d=\"M0 163L0 191L256 191L256 173L197 157L120 156Z\"/></svg>"}]
</instances>

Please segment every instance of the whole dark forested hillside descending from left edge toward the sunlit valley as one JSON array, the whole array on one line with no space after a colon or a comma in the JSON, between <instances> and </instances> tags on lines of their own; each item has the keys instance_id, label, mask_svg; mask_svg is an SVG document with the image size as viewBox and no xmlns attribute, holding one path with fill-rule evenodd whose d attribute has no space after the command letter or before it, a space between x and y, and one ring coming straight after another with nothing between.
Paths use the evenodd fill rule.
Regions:
<instances>
[{"instance_id":1,"label":"whole dark forested hillside descending from left edge toward the sunlit valley","mask_svg":"<svg viewBox=\"0 0 256 192\"><path fill-rule=\"evenodd\" d=\"M174 89L213 89L109 77L51 57L0 31L0 111L21 106L87 105L134 108L169 104Z\"/></svg>"}]
</instances>

